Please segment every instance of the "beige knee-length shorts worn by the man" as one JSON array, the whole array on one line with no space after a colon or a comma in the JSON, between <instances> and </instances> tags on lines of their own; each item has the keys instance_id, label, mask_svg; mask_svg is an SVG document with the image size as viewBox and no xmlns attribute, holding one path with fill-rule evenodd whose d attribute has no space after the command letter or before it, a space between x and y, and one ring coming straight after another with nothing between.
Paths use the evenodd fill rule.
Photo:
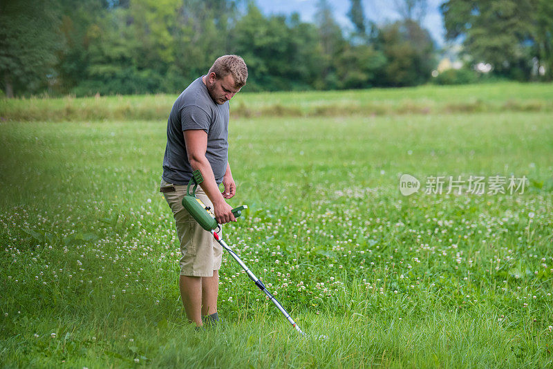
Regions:
<instances>
[{"instance_id":1,"label":"beige knee-length shorts worn by the man","mask_svg":"<svg viewBox=\"0 0 553 369\"><path fill-rule=\"evenodd\" d=\"M178 240L180 241L180 275L181 276L213 276L213 271L221 269L223 247L217 243L211 233L203 229L189 212L182 207L182 198L186 186L172 185L161 180L161 187L175 187L176 191L164 192L165 200L173 211ZM203 189L198 186L196 197L207 207L213 209L211 200ZM221 236L222 231L218 231Z\"/></svg>"}]
</instances>

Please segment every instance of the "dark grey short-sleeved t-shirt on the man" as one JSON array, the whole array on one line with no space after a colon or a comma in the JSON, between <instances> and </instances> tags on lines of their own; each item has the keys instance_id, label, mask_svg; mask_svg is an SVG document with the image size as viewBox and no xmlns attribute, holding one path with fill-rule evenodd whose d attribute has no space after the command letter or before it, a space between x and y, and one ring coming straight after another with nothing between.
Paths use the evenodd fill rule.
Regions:
<instances>
[{"instance_id":1,"label":"dark grey short-sleeved t-shirt on the man","mask_svg":"<svg viewBox=\"0 0 553 369\"><path fill-rule=\"evenodd\" d=\"M207 133L205 157L211 164L217 184L223 182L228 162L229 102L216 104L202 77L192 82L177 98L167 120L167 146L162 179L187 185L192 177L183 131L203 129Z\"/></svg>"}]
</instances>

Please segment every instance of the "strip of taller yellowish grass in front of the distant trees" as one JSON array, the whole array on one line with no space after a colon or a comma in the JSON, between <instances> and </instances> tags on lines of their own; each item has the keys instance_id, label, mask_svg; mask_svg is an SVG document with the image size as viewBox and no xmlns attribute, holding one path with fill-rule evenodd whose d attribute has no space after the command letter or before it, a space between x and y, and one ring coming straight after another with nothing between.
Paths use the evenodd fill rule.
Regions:
<instances>
[{"instance_id":1,"label":"strip of taller yellowish grass in front of the distant trees","mask_svg":"<svg viewBox=\"0 0 553 369\"><path fill-rule=\"evenodd\" d=\"M553 111L552 84L420 86L360 91L243 93L233 117L325 117ZM175 95L0 100L14 121L167 120Z\"/></svg>"}]
</instances>

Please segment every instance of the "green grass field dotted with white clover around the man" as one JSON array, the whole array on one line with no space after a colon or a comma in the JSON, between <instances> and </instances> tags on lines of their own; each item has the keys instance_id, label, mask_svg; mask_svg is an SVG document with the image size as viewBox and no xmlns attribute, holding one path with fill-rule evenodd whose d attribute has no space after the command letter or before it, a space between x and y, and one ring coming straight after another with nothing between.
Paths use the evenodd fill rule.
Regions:
<instances>
[{"instance_id":1,"label":"green grass field dotted with white clover around the man","mask_svg":"<svg viewBox=\"0 0 553 369\"><path fill-rule=\"evenodd\" d=\"M250 209L225 239L307 337L227 255L225 325L186 323L158 193L167 118L104 115L174 96L102 97L82 120L35 100L48 119L32 122L24 100L1 102L0 366L553 366L553 86L517 86L236 96L250 113L229 130L230 202ZM362 97L388 108L310 113ZM513 99L539 108L501 108ZM472 102L495 107L446 111ZM275 104L303 113L261 114ZM418 193L400 193L402 173ZM465 188L427 194L433 176ZM477 195L471 176L527 182Z\"/></svg>"}]
</instances>

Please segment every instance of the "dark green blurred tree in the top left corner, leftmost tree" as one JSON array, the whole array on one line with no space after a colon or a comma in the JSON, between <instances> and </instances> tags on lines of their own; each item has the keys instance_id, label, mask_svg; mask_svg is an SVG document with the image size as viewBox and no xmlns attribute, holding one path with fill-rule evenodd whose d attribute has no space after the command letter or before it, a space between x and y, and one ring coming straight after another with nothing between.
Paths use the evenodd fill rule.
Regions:
<instances>
[{"instance_id":1,"label":"dark green blurred tree in the top left corner, leftmost tree","mask_svg":"<svg viewBox=\"0 0 553 369\"><path fill-rule=\"evenodd\" d=\"M53 82L62 46L59 17L54 0L1 1L0 75L7 97L35 93Z\"/></svg>"}]
</instances>

